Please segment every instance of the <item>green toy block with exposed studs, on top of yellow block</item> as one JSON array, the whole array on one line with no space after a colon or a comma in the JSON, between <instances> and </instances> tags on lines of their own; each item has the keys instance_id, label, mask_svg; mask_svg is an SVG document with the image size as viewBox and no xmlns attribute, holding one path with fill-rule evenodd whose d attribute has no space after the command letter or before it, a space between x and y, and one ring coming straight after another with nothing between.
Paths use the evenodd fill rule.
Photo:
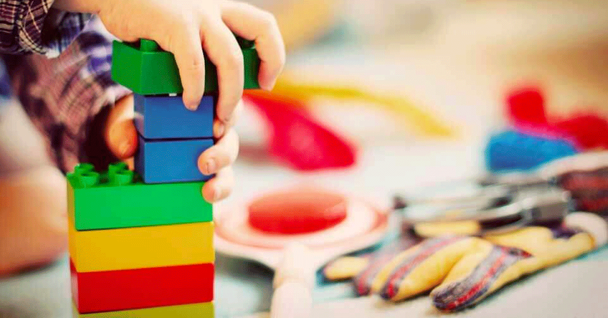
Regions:
<instances>
[{"instance_id":1,"label":"green toy block with exposed studs, on top of yellow block","mask_svg":"<svg viewBox=\"0 0 608 318\"><path fill-rule=\"evenodd\" d=\"M67 175L68 212L76 230L118 229L212 221L204 182L144 184L126 164L98 173L80 164Z\"/></svg>"}]
</instances>

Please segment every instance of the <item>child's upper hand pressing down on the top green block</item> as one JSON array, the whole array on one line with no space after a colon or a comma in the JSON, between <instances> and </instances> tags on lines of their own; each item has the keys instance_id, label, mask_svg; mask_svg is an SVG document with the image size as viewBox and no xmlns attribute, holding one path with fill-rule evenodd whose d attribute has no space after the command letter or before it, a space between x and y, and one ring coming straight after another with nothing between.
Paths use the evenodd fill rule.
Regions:
<instances>
[{"instance_id":1,"label":"child's upper hand pressing down on the top green block","mask_svg":"<svg viewBox=\"0 0 608 318\"><path fill-rule=\"evenodd\" d=\"M272 89L285 63L277 23L268 12L231 0L56 0L57 9L96 13L123 41L147 38L175 55L184 104L196 109L205 88L205 63L218 69L218 118L230 122L243 95L243 56L232 32L255 40L261 59L259 83ZM202 43L202 44L201 44Z\"/></svg>"}]
</instances>

